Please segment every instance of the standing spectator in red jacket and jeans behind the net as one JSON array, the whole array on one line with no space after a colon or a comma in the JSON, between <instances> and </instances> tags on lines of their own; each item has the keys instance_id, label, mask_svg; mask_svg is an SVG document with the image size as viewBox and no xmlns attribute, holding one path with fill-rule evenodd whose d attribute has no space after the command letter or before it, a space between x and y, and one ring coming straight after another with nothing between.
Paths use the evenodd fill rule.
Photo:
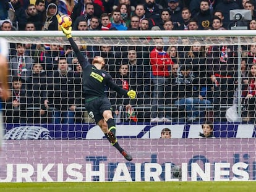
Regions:
<instances>
[{"instance_id":1,"label":"standing spectator in red jacket and jeans behind the net","mask_svg":"<svg viewBox=\"0 0 256 192\"><path fill-rule=\"evenodd\" d=\"M157 46L150 52L150 65L154 85L151 122L171 122L171 120L164 117L163 109L158 108L158 106L164 104L164 88L170 76L168 66L173 65L174 62L169 57L169 54L163 50L163 39L158 38L155 43Z\"/></svg>"}]
</instances>

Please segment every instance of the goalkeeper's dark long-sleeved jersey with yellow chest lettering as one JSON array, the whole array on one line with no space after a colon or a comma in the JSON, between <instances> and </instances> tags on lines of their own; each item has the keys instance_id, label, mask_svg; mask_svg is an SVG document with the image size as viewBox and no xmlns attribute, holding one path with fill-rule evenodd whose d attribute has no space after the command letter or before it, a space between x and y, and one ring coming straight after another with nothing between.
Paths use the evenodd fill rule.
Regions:
<instances>
[{"instance_id":1,"label":"goalkeeper's dark long-sleeved jersey with yellow chest lettering","mask_svg":"<svg viewBox=\"0 0 256 192\"><path fill-rule=\"evenodd\" d=\"M77 54L77 59L79 64L83 69L83 95L85 96L85 102L90 102L93 99L106 97L106 86L113 89L119 94L126 97L127 91L120 88L116 83L114 83L113 78L105 70L96 69L92 64L89 64L80 52L77 44L72 38L69 38L69 42Z\"/></svg>"}]
</instances>

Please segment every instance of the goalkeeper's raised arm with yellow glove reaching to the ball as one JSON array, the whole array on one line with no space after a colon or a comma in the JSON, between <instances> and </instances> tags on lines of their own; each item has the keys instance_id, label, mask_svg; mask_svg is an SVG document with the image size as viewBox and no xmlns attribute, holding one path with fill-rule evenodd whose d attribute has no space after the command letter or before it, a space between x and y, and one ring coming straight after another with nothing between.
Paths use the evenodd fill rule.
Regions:
<instances>
[{"instance_id":1,"label":"goalkeeper's raised arm with yellow glove reaching to the ball","mask_svg":"<svg viewBox=\"0 0 256 192\"><path fill-rule=\"evenodd\" d=\"M69 43L72 46L73 50L75 51L75 54L77 55L77 59L79 60L79 64L82 66L82 68L84 68L87 65L87 61L83 57L77 44L75 43L75 41L72 38L72 35L71 35L72 27L69 27L69 29L66 29L61 26L61 29L62 29L63 33L66 35L67 39L69 40Z\"/></svg>"}]
</instances>

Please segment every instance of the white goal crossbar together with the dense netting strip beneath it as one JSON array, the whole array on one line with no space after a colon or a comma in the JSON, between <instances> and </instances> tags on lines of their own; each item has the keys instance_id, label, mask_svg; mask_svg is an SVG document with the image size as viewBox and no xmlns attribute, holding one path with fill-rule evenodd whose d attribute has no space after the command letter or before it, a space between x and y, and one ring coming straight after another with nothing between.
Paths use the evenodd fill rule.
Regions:
<instances>
[{"instance_id":1,"label":"white goal crossbar together with the dense netting strip beneath it","mask_svg":"<svg viewBox=\"0 0 256 192\"><path fill-rule=\"evenodd\" d=\"M159 37L164 38L164 45L168 46L192 45L195 41L201 45L256 44L254 30L72 31L72 36L79 45L153 46L153 40ZM69 44L62 31L0 31L0 37L6 38L10 43Z\"/></svg>"}]
</instances>

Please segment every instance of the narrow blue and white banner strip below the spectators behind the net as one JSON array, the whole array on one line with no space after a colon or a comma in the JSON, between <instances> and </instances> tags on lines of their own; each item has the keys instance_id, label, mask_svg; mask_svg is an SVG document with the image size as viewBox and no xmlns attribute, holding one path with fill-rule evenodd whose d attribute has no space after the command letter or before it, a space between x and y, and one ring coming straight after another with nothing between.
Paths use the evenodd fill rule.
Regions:
<instances>
[{"instance_id":1,"label":"narrow blue and white banner strip below the spectators behind the net","mask_svg":"<svg viewBox=\"0 0 256 192\"><path fill-rule=\"evenodd\" d=\"M200 138L202 125L171 125L171 124L134 124L117 127L117 138L160 138L161 130L169 128L172 138ZM215 124L213 136L215 138L255 138L255 125L223 123ZM101 139L105 135L95 124L78 125L23 125L6 124L6 140L37 140L37 139Z\"/></svg>"}]
</instances>

